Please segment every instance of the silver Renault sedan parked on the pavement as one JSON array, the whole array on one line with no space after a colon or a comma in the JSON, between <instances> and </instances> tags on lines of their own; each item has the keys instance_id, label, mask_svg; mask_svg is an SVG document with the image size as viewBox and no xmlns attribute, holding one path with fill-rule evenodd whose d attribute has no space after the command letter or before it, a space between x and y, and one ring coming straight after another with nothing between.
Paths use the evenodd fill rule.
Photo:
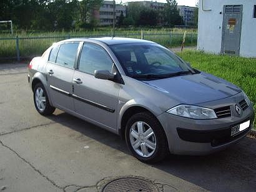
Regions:
<instances>
[{"instance_id":1,"label":"silver Renault sedan parked on the pavement","mask_svg":"<svg viewBox=\"0 0 256 192\"><path fill-rule=\"evenodd\" d=\"M28 65L41 115L59 108L126 139L140 161L204 155L245 137L254 109L239 87L139 39L69 39Z\"/></svg>"}]
</instances>

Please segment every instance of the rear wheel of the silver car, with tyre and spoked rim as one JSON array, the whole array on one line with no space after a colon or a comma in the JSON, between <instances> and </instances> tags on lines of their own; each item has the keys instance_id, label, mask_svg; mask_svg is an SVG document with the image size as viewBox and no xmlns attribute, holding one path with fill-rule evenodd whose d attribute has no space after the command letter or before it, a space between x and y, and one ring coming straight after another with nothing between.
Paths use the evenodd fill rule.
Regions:
<instances>
[{"instance_id":1,"label":"rear wheel of the silver car, with tyre and spoked rim","mask_svg":"<svg viewBox=\"0 0 256 192\"><path fill-rule=\"evenodd\" d=\"M50 105L46 89L44 89L44 85L42 85L41 83L36 84L33 92L34 105L36 107L37 112L44 116L51 115L56 108Z\"/></svg>"}]
</instances>

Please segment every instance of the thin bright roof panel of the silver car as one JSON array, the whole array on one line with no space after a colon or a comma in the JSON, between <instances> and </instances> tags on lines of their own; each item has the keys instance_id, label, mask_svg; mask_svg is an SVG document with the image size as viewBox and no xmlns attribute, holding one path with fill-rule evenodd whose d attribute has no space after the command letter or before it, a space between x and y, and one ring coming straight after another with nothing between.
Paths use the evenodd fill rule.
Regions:
<instances>
[{"instance_id":1,"label":"thin bright roof panel of the silver car","mask_svg":"<svg viewBox=\"0 0 256 192\"><path fill-rule=\"evenodd\" d=\"M99 37L99 38L89 38L90 40L103 42L108 46L117 45L117 44L135 44L135 43L147 43L147 44L155 44L155 42L147 41L143 39L132 39L132 38L125 38L125 37ZM67 39L62 42L69 42L69 41L87 41L87 38L77 38L77 39Z\"/></svg>"}]
</instances>

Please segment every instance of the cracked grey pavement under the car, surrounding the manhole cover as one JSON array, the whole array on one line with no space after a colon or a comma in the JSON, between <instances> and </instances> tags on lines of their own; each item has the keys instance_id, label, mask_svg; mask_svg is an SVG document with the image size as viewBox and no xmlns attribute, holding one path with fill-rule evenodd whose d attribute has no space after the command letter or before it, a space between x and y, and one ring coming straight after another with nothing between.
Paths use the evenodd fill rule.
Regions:
<instances>
[{"instance_id":1,"label":"cracked grey pavement under the car, surrounding the manhole cover","mask_svg":"<svg viewBox=\"0 0 256 192\"><path fill-rule=\"evenodd\" d=\"M165 191L256 189L256 140L146 165L117 135L60 110L39 115L26 65L0 65L0 90L0 191L96 191L116 176L142 176Z\"/></svg>"}]
</instances>

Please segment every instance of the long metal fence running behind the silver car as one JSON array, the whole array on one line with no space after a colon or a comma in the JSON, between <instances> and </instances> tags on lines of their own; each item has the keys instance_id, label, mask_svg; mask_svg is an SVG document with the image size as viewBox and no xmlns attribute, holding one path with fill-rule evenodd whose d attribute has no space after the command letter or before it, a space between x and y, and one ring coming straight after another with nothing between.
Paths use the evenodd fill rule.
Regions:
<instances>
[{"instance_id":1,"label":"long metal fence running behind the silver car","mask_svg":"<svg viewBox=\"0 0 256 192\"><path fill-rule=\"evenodd\" d=\"M111 34L97 34L85 36L51 36L51 37L8 37L0 38L0 60L31 58L41 55L52 43L71 38L92 38L109 37ZM116 34L115 37L130 37L135 39L145 39L154 41L166 47L181 46L184 34L177 33L136 33L136 34ZM196 46L197 34L187 34L185 46Z\"/></svg>"}]
</instances>

